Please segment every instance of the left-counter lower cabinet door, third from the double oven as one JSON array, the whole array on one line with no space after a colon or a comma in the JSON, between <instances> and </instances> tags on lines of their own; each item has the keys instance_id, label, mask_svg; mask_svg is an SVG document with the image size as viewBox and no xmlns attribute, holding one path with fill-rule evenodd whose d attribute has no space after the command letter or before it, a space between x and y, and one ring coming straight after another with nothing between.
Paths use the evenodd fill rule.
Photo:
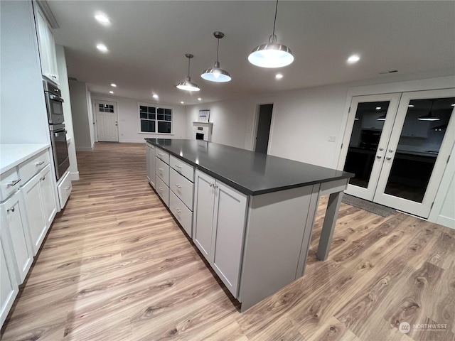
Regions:
<instances>
[{"instance_id":1,"label":"left-counter lower cabinet door, third from the double oven","mask_svg":"<svg viewBox=\"0 0 455 341\"><path fill-rule=\"evenodd\" d=\"M1 215L4 215L2 222L6 222L7 233L11 238L16 277L18 283L21 284L33 262L33 251L21 190L18 190L16 194L1 204Z\"/></svg>"}]
</instances>

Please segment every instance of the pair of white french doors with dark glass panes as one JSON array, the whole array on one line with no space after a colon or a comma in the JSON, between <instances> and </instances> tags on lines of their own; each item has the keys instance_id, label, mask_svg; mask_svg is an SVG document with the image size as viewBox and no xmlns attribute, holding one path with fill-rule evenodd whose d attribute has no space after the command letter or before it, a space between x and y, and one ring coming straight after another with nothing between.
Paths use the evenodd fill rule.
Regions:
<instances>
[{"instance_id":1,"label":"pair of white french doors with dark glass panes","mask_svg":"<svg viewBox=\"0 0 455 341\"><path fill-rule=\"evenodd\" d=\"M455 89L353 97L346 193L427 218L455 142Z\"/></svg>"}]
</instances>

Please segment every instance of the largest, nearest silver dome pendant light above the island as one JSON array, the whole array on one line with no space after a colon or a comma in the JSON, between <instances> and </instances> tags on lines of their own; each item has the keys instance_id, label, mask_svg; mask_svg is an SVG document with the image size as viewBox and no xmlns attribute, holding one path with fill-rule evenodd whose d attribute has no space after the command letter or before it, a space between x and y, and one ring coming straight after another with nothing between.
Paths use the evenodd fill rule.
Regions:
<instances>
[{"instance_id":1,"label":"largest, nearest silver dome pendant light above the island","mask_svg":"<svg viewBox=\"0 0 455 341\"><path fill-rule=\"evenodd\" d=\"M294 61L291 49L286 45L277 43L275 36L275 23L277 22L277 6L275 6L275 18L273 22L273 33L269 37L269 43L257 46L248 56L250 63L260 67L283 67Z\"/></svg>"}]
</instances>

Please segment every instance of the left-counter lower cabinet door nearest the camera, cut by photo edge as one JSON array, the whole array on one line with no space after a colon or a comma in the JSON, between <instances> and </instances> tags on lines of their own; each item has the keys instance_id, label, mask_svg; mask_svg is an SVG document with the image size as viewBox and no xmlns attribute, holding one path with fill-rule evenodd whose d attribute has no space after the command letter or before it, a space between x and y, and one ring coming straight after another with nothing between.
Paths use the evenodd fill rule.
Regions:
<instances>
[{"instance_id":1,"label":"left-counter lower cabinet door nearest the camera, cut by photo edge","mask_svg":"<svg viewBox=\"0 0 455 341\"><path fill-rule=\"evenodd\" d=\"M6 316L14 303L14 298L16 298L19 291L6 243L9 243L9 240L5 239L0 233L0 327L5 322Z\"/></svg>"}]
</instances>

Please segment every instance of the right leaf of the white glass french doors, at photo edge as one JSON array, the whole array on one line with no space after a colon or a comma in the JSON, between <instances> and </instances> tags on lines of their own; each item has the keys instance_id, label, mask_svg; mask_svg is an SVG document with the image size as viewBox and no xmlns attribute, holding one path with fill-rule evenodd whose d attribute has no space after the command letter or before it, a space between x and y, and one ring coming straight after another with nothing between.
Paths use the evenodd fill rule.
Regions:
<instances>
[{"instance_id":1,"label":"right leaf of the white glass french doors, at photo edge","mask_svg":"<svg viewBox=\"0 0 455 341\"><path fill-rule=\"evenodd\" d=\"M374 202L427 218L455 142L455 89L404 92Z\"/></svg>"}]
</instances>

